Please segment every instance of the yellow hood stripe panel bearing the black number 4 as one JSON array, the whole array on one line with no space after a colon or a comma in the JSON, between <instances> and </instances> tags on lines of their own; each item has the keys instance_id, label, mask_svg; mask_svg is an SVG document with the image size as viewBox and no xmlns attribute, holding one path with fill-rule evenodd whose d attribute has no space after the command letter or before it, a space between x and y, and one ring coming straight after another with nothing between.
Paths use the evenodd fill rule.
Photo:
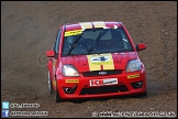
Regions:
<instances>
[{"instance_id":1,"label":"yellow hood stripe panel bearing the black number 4","mask_svg":"<svg viewBox=\"0 0 178 119\"><path fill-rule=\"evenodd\" d=\"M114 69L111 53L101 55L87 55L90 71Z\"/></svg>"}]
</instances>

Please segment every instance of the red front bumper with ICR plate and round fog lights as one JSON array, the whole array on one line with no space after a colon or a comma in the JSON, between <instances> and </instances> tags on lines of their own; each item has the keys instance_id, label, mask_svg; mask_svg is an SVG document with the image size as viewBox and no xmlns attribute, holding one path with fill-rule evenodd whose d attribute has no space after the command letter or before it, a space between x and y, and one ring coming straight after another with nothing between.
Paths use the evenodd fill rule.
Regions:
<instances>
[{"instance_id":1,"label":"red front bumper with ICR plate and round fog lights","mask_svg":"<svg viewBox=\"0 0 178 119\"><path fill-rule=\"evenodd\" d=\"M63 75L58 77L57 89L62 99L112 97L146 91L145 71L98 77L64 77ZM116 79L116 83L103 85L103 79ZM92 86L91 82L93 82Z\"/></svg>"}]
</instances>

